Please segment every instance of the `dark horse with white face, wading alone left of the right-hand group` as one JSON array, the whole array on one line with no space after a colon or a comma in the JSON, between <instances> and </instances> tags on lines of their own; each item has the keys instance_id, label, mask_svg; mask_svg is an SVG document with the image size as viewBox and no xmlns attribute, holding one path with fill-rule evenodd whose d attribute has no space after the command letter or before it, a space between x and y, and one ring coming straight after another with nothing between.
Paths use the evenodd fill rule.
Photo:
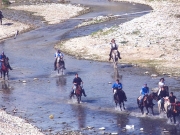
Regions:
<instances>
[{"instance_id":1,"label":"dark horse with white face, wading alone left of the right-hand group","mask_svg":"<svg viewBox=\"0 0 180 135\"><path fill-rule=\"evenodd\" d=\"M119 104L121 111L122 111L121 104L123 105L123 109L125 110L124 101L127 101L125 92L121 89L115 89L114 90L114 102L116 104L116 107L117 107L117 104Z\"/></svg>"}]
</instances>

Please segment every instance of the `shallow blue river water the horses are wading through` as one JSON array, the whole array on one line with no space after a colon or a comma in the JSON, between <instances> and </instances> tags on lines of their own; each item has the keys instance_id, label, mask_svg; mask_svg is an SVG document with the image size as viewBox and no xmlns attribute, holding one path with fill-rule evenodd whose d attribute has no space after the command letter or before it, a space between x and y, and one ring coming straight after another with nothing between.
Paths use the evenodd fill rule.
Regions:
<instances>
[{"instance_id":1,"label":"shallow blue river water the horses are wading through","mask_svg":"<svg viewBox=\"0 0 180 135\"><path fill-rule=\"evenodd\" d=\"M107 2L107 5L102 4L104 1L94 2L96 4L85 1L94 10L81 17L150 9L143 5L120 3L120 7L127 8L118 10L117 3ZM146 82L150 89L154 88L161 77L151 78L149 75L144 75L145 71L149 71L150 74L155 73L152 69L121 63L118 65L118 71L114 71L112 63L77 60L65 55L67 68L65 75L58 75L53 71L55 52L53 46L56 42L75 37L77 32L82 35L90 34L103 27L122 23L126 19L80 29L74 27L82 20L68 20L62 24L40 27L19 35L17 39L8 39L1 43L1 49L10 58L14 70L10 71L9 81L1 81L0 105L5 106L7 112L11 114L13 114L12 110L17 108L17 113L13 115L28 120L47 134L48 129L52 129L51 133L55 134L62 130L81 130L87 126L96 130L81 130L82 133L102 134L104 131L99 131L98 128L105 127L107 133L160 135L163 134L162 130L166 129L169 134L180 134L179 125L169 123L164 115L158 114L157 104L154 108L155 116L151 114L142 116L137 107L136 98L139 96L141 86ZM68 97L75 73L79 73L83 79L87 94L87 97L82 97L80 105L74 100L69 100ZM179 98L180 79L164 77L170 91ZM128 98L125 103L126 111L115 108L113 102L111 83L116 78L120 78ZM54 119L49 118L51 114L54 115ZM135 128L124 131L126 125L135 125ZM140 131L140 128L144 131Z\"/></svg>"}]
</instances>

